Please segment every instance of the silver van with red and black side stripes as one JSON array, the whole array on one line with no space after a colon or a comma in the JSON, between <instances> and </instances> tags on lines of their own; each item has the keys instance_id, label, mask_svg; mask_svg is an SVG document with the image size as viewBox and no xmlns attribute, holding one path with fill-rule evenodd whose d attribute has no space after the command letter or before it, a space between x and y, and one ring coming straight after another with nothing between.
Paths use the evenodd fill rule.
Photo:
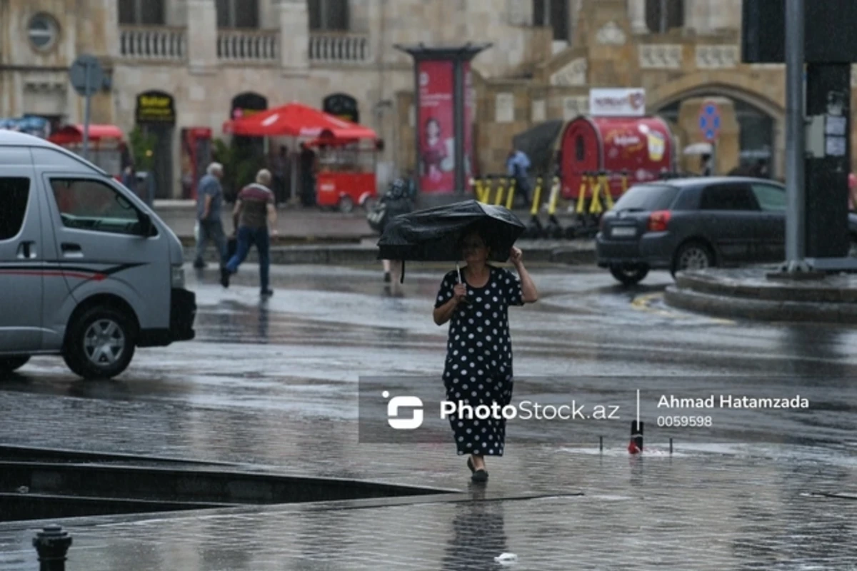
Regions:
<instances>
[{"instance_id":1,"label":"silver van with red and black side stripes","mask_svg":"<svg viewBox=\"0 0 857 571\"><path fill-rule=\"evenodd\" d=\"M183 249L128 188L83 158L0 130L0 379L61 354L82 378L137 347L193 339Z\"/></svg>"}]
</instances>

